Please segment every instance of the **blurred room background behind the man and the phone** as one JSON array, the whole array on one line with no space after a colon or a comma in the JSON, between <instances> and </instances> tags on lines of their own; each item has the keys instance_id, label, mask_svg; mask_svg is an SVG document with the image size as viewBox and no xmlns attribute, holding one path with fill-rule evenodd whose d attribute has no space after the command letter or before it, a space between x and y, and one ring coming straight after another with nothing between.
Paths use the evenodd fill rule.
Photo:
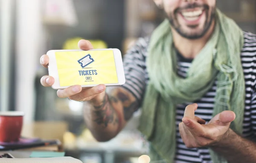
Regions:
<instances>
[{"instance_id":1,"label":"blurred room background behind the man and the phone","mask_svg":"<svg viewBox=\"0 0 256 163\"><path fill-rule=\"evenodd\" d=\"M256 33L255 0L217 3L244 31ZM136 162L147 152L136 130L140 112L115 139L97 143L84 126L82 103L60 99L56 90L41 86L47 69L39 59L51 49L77 49L80 39L125 55L163 18L153 0L1 0L0 111L24 111L23 136L58 138L67 155L84 163Z\"/></svg>"}]
</instances>

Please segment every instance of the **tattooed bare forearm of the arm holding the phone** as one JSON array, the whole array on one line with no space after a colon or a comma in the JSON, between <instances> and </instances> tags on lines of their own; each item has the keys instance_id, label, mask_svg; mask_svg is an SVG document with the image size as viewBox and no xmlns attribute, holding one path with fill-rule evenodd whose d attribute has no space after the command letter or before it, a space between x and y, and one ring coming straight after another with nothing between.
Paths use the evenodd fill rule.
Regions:
<instances>
[{"instance_id":1,"label":"tattooed bare forearm of the arm holding the phone","mask_svg":"<svg viewBox=\"0 0 256 163\"><path fill-rule=\"evenodd\" d=\"M137 108L135 98L121 87L114 87L105 93L101 103L85 103L84 120L98 141L115 137L131 118Z\"/></svg>"}]
</instances>

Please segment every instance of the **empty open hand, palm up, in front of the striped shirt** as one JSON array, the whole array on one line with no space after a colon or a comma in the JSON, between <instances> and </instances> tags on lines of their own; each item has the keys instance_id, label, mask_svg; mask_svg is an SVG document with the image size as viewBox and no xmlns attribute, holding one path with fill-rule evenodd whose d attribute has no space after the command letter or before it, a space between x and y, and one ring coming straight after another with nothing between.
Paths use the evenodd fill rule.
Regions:
<instances>
[{"instance_id":1,"label":"empty open hand, palm up, in front of the striped shirt","mask_svg":"<svg viewBox=\"0 0 256 163\"><path fill-rule=\"evenodd\" d=\"M224 111L217 114L208 124L205 120L195 117L197 104L186 107L182 122L179 124L180 136L188 148L213 146L226 138L230 123L235 120L236 114Z\"/></svg>"}]
</instances>

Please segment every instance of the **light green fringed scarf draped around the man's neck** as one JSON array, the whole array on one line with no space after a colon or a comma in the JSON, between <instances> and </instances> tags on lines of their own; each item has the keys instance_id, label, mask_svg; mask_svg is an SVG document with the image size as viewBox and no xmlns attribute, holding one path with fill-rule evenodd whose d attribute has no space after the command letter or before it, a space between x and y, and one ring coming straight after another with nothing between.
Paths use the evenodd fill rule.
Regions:
<instances>
[{"instance_id":1,"label":"light green fringed scarf draped around the man's neck","mask_svg":"<svg viewBox=\"0 0 256 163\"><path fill-rule=\"evenodd\" d=\"M217 77L213 115L231 110L236 120L230 128L242 134L245 82L241 66L243 31L217 9L215 30L195 57L187 77L177 75L172 31L165 20L151 36L146 60L149 83L142 106L139 130L151 145L151 160L173 163L176 152L176 105L201 99ZM185 109L185 108L184 108ZM210 150L213 163L226 160Z\"/></svg>"}]
</instances>

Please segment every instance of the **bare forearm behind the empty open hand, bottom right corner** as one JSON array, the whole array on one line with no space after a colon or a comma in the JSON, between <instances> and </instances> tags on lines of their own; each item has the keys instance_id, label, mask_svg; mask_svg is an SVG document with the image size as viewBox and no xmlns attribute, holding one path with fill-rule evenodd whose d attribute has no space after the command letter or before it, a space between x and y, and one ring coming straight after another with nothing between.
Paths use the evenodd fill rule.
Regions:
<instances>
[{"instance_id":1,"label":"bare forearm behind the empty open hand, bottom right corner","mask_svg":"<svg viewBox=\"0 0 256 163\"><path fill-rule=\"evenodd\" d=\"M231 129L212 149L229 163L256 163L256 143L239 136Z\"/></svg>"}]
</instances>

